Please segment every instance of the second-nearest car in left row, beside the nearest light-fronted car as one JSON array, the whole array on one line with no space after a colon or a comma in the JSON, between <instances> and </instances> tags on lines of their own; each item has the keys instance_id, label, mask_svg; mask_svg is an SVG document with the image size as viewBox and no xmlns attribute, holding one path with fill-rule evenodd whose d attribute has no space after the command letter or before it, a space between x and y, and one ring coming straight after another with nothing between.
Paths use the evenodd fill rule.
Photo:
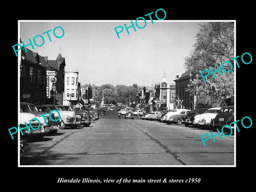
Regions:
<instances>
[{"instance_id":1,"label":"second-nearest car in left row, beside the nearest light-fronted car","mask_svg":"<svg viewBox=\"0 0 256 192\"><path fill-rule=\"evenodd\" d=\"M58 130L60 128L61 120L55 121L55 122L52 121L51 118L54 120L58 118L57 116L54 115L54 113L51 113L51 118L49 116L49 113L47 113L47 115L44 116L45 121L47 123L47 125L46 125L46 123L44 121L44 117L43 116L39 117L39 116L45 114L45 112L43 113L43 111L38 111L38 109L36 108L36 106L33 103L20 102L20 108L25 113L34 114L36 116L36 118L39 119L41 124L43 124L45 133L54 134L54 133L58 132Z\"/></svg>"}]
</instances>

